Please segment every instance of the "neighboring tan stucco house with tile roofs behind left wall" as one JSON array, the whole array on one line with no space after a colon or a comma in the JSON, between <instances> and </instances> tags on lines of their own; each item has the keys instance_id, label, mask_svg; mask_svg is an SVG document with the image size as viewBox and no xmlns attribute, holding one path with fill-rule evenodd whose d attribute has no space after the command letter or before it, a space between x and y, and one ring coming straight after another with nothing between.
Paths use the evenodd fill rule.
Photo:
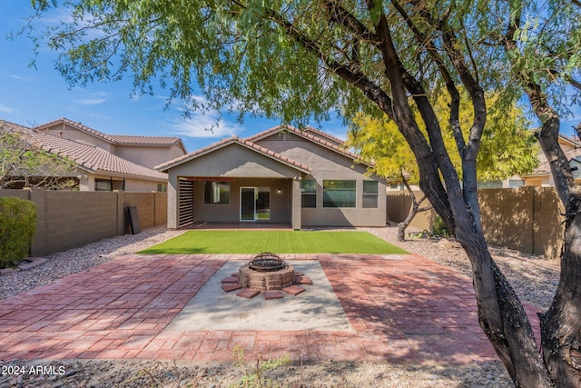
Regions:
<instances>
[{"instance_id":1,"label":"neighboring tan stucco house with tile roofs behind left wall","mask_svg":"<svg viewBox=\"0 0 581 388\"><path fill-rule=\"evenodd\" d=\"M34 128L0 120L0 127L72 161L64 178L77 182L80 191L165 191L167 174L153 166L186 154L179 137L103 134L66 118Z\"/></svg>"}]
</instances>

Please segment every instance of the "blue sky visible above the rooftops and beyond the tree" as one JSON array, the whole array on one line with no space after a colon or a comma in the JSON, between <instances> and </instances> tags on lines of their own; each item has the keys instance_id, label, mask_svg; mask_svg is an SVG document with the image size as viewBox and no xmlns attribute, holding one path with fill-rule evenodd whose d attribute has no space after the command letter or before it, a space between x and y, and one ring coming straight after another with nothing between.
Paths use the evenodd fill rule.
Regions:
<instances>
[{"instance_id":1,"label":"blue sky visible above the rooftops and beyond the tree","mask_svg":"<svg viewBox=\"0 0 581 388\"><path fill-rule=\"evenodd\" d=\"M131 96L129 81L69 86L54 70L56 54L41 48L36 68L29 66L34 57L32 42L25 36L7 40L31 13L28 0L0 0L0 118L16 124L34 126L60 117L81 122L105 134L177 135L189 152L212 144L223 137L248 136L270 128L278 121L248 117L243 124L223 114L220 126L213 133L205 130L215 123L217 114L194 114L186 120L180 102L169 108L166 91L155 95ZM55 18L58 14L54 15ZM50 22L50 19L45 22ZM572 127L581 122L581 107L574 116L562 121L562 133L573 134ZM345 138L346 128L331 114L327 123L315 124L321 130Z\"/></svg>"}]
</instances>

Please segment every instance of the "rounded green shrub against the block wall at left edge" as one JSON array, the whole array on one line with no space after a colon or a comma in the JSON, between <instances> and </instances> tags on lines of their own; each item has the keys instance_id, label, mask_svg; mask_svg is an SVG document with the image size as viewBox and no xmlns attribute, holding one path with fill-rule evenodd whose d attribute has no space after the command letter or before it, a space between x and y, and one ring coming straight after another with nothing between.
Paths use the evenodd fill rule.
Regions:
<instances>
[{"instance_id":1,"label":"rounded green shrub against the block wall at left edge","mask_svg":"<svg viewBox=\"0 0 581 388\"><path fill-rule=\"evenodd\" d=\"M0 197L0 268L28 255L36 230L36 205L14 196Z\"/></svg>"}]
</instances>

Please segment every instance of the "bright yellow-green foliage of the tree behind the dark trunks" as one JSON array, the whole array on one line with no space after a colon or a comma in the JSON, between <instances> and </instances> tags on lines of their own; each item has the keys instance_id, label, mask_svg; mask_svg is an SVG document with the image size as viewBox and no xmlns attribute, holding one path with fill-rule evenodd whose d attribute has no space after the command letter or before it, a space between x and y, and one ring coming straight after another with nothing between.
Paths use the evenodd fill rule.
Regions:
<instances>
[{"instance_id":1,"label":"bright yellow-green foliage of the tree behind the dark trunks","mask_svg":"<svg viewBox=\"0 0 581 388\"><path fill-rule=\"evenodd\" d=\"M467 99L463 94L460 104L460 120L465 123L473 115ZM523 110L515 104L505 109L497 109L497 100L498 97L494 96L487 99L487 124L477 157L479 182L503 180L514 174L528 174L538 166L537 140L529 130L530 122ZM440 95L434 105L439 124L443 128L444 143L452 163L461 175L461 160L458 153L454 153L455 140L447 125L448 102ZM417 110L414 112L419 115ZM421 123L421 118L417 117L417 121ZM425 125L421 125L420 129L426 135ZM466 133L462 135L467 141ZM389 117L375 118L357 114L348 134L348 144L364 160L373 161L373 173L399 180L403 169L410 184L419 184L419 170L414 154L399 133L398 125Z\"/></svg>"}]
</instances>

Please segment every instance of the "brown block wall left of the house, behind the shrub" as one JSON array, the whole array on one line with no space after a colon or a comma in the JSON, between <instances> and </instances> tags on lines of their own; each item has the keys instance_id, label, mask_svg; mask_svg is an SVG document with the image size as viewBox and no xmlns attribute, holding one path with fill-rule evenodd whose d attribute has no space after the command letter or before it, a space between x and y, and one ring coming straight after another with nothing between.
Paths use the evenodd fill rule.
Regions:
<instances>
[{"instance_id":1,"label":"brown block wall left of the house, behind the shrub","mask_svg":"<svg viewBox=\"0 0 581 388\"><path fill-rule=\"evenodd\" d=\"M166 193L32 189L0 190L0 196L15 196L36 204L38 215L31 256L54 254L131 233L127 206L137 206L142 229L167 222Z\"/></svg>"}]
</instances>

